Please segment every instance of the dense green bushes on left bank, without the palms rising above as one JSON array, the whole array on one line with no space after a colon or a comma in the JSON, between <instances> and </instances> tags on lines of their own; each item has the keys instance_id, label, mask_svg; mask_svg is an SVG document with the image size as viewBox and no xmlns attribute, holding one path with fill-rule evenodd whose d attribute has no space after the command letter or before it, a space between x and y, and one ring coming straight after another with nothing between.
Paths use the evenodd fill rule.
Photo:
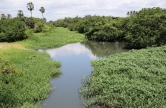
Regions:
<instances>
[{"instance_id":1,"label":"dense green bushes on left bank, without the palms rising above","mask_svg":"<svg viewBox=\"0 0 166 108\"><path fill-rule=\"evenodd\" d=\"M48 32L54 29L38 18L14 18L0 20L0 42L15 42L32 37L32 33Z\"/></svg>"}]
</instances>

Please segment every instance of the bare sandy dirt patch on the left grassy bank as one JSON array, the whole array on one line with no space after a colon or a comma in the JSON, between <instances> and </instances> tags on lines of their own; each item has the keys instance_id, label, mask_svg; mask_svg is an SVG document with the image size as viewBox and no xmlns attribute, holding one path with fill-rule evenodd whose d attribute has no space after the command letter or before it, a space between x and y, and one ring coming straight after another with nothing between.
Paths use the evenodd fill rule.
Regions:
<instances>
[{"instance_id":1,"label":"bare sandy dirt patch on the left grassy bank","mask_svg":"<svg viewBox=\"0 0 166 108\"><path fill-rule=\"evenodd\" d=\"M0 49L25 49L24 46L19 44L13 44L13 43L0 43Z\"/></svg>"}]
</instances>

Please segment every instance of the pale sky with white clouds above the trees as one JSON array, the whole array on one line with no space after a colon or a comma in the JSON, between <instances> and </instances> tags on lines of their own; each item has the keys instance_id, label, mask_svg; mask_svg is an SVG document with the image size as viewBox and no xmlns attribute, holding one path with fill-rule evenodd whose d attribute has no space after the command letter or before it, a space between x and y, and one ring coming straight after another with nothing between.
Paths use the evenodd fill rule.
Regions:
<instances>
[{"instance_id":1,"label":"pale sky with white clouds above the trees","mask_svg":"<svg viewBox=\"0 0 166 108\"><path fill-rule=\"evenodd\" d=\"M42 18L40 7L45 8L47 21L65 17L84 17L85 15L126 17L128 11L139 11L142 8L166 8L166 0L0 0L0 13L17 16L22 10L24 16L30 17L27 3L34 4L33 17Z\"/></svg>"}]
</instances>

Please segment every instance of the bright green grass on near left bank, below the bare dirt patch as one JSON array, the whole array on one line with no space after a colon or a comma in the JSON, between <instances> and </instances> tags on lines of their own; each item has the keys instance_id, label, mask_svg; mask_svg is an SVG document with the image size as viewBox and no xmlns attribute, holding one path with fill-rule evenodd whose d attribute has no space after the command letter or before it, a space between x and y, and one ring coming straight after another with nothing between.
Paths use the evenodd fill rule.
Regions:
<instances>
[{"instance_id":1,"label":"bright green grass on near left bank, below the bare dirt patch","mask_svg":"<svg viewBox=\"0 0 166 108\"><path fill-rule=\"evenodd\" d=\"M52 61L44 53L32 50L0 49L0 57L8 60L11 66L14 64L14 69L21 72L21 76L11 77L7 73L7 69L9 70L11 66L0 63L0 67L3 69L2 72L6 72L10 76L7 77L8 83L3 83L1 85L3 87L0 88L1 108L16 108L21 106L26 108L26 104L32 107L35 106L36 102L46 98L52 90L49 82L50 78L61 73L59 69L60 63ZM4 66L6 68L3 68ZM2 83L3 81L0 80L0 82ZM4 90L2 88L4 87L6 91L2 92Z\"/></svg>"}]
</instances>

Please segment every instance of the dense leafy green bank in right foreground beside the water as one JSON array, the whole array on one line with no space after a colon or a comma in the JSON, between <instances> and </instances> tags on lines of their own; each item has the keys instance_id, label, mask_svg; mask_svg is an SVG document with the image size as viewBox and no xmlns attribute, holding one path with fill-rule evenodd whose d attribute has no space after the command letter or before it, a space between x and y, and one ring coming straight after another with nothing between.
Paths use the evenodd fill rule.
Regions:
<instances>
[{"instance_id":1,"label":"dense leafy green bank in right foreground beside the water","mask_svg":"<svg viewBox=\"0 0 166 108\"><path fill-rule=\"evenodd\" d=\"M166 46L92 61L80 93L88 108L166 107Z\"/></svg>"}]
</instances>

